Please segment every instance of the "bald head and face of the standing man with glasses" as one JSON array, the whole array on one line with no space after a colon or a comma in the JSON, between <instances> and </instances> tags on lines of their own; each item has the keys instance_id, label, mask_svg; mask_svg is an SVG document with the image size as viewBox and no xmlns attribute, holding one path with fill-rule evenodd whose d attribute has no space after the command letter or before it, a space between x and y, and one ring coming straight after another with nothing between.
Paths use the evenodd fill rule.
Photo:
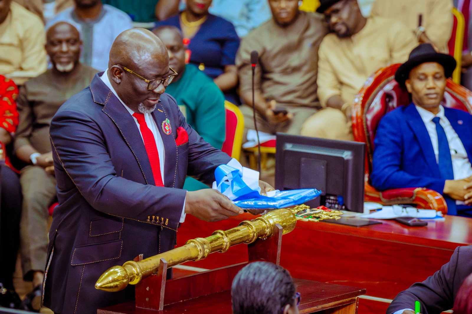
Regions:
<instances>
[{"instance_id":1,"label":"bald head and face of the standing man with glasses","mask_svg":"<svg viewBox=\"0 0 472 314\"><path fill-rule=\"evenodd\" d=\"M169 76L166 46L146 29L134 28L124 31L111 46L108 69L111 85L131 110L152 112L166 89L159 83L150 91L146 81Z\"/></svg>"}]
</instances>

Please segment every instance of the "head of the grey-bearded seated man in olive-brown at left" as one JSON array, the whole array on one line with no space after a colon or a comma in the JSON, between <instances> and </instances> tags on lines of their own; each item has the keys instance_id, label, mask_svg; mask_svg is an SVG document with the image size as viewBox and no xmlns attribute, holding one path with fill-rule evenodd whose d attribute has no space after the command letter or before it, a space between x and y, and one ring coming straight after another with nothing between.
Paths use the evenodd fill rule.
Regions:
<instances>
[{"instance_id":1,"label":"head of the grey-bearded seated man in olive-brown at left","mask_svg":"<svg viewBox=\"0 0 472 314\"><path fill-rule=\"evenodd\" d=\"M71 72L79 63L81 45L79 32L69 23L56 23L46 33L46 52L59 72Z\"/></svg>"}]
</instances>

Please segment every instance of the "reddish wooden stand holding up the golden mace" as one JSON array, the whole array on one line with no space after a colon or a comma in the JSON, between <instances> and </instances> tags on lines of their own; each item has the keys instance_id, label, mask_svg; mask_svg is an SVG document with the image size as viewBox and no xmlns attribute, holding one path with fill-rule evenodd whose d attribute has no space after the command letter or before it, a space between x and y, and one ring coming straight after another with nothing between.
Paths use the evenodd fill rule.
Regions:
<instances>
[{"instance_id":1,"label":"reddish wooden stand holding up the golden mace","mask_svg":"<svg viewBox=\"0 0 472 314\"><path fill-rule=\"evenodd\" d=\"M231 284L236 273L248 263L263 260L279 264L282 227L277 223L272 236L248 245L248 261L170 279L166 281L167 262L135 287L135 302L99 309L97 314L229 314ZM140 257L142 258L142 256ZM294 279L302 294L299 313L356 314L358 297L365 289Z\"/></svg>"}]
</instances>

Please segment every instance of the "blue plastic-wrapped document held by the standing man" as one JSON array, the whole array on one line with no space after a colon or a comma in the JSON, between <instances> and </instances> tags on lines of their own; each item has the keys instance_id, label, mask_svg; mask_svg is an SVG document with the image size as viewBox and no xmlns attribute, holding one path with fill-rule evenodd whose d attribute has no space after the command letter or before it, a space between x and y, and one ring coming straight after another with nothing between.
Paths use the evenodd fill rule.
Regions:
<instances>
[{"instance_id":1,"label":"blue plastic-wrapped document held by the standing man","mask_svg":"<svg viewBox=\"0 0 472 314\"><path fill-rule=\"evenodd\" d=\"M237 162L216 168L215 179L213 189L226 195L236 206L247 209L293 207L321 195L321 191L315 189L275 190L267 196L261 195L259 172L241 167Z\"/></svg>"}]
</instances>

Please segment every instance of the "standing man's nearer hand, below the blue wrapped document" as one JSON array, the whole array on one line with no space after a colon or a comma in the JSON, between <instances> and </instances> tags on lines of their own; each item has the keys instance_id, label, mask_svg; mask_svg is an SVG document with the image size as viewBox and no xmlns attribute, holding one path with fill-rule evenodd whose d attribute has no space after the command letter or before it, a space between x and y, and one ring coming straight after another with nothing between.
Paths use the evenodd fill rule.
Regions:
<instances>
[{"instance_id":1,"label":"standing man's nearer hand, below the blue wrapped document","mask_svg":"<svg viewBox=\"0 0 472 314\"><path fill-rule=\"evenodd\" d=\"M207 222L228 219L244 213L229 198L214 189L187 191L185 197L185 213Z\"/></svg>"}]
</instances>

